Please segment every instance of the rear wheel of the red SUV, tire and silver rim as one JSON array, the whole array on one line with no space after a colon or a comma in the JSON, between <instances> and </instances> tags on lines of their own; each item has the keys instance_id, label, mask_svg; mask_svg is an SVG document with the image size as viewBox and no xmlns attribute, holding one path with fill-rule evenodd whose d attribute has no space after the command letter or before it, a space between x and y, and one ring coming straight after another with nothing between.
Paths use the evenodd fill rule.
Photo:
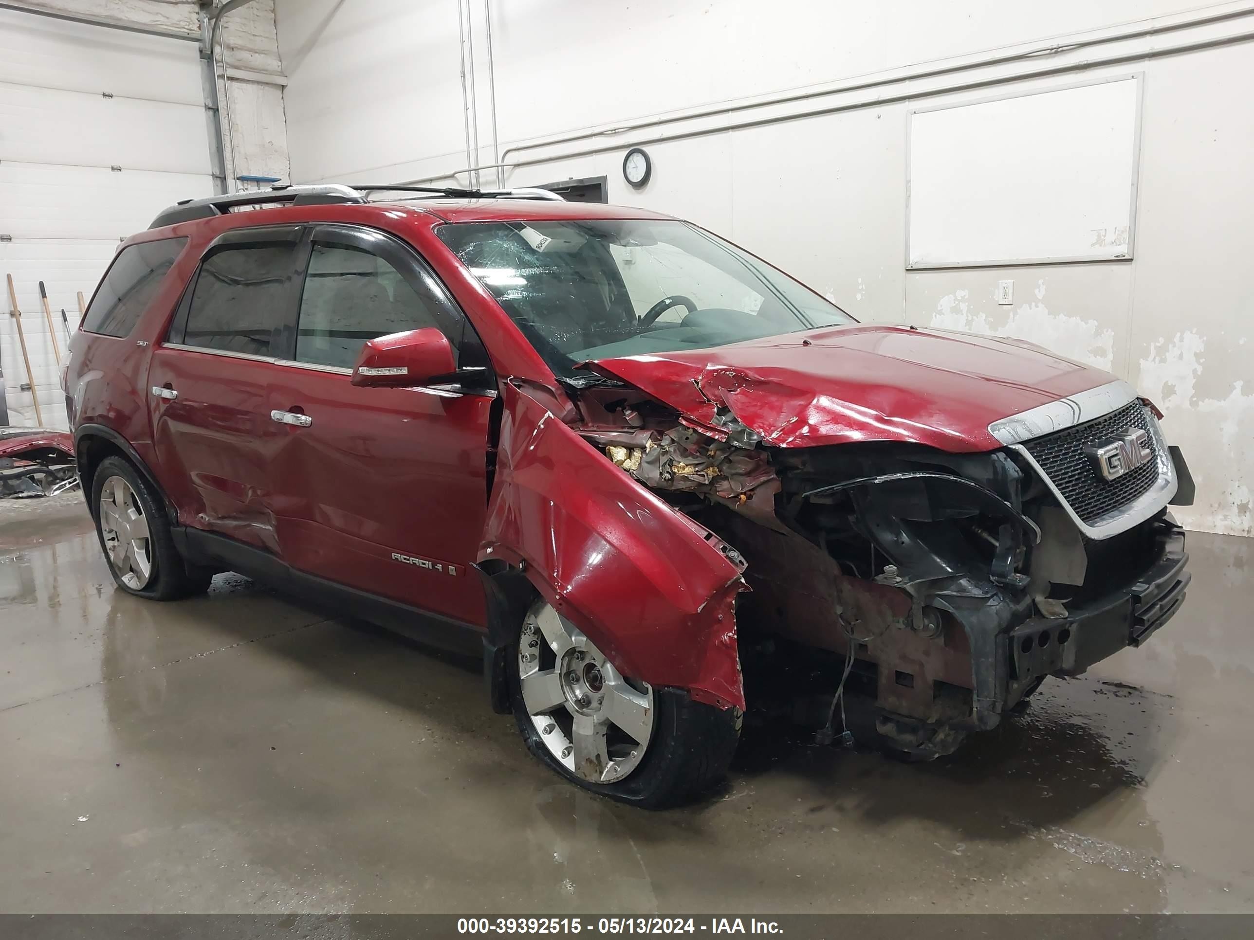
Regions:
<instances>
[{"instance_id":1,"label":"rear wheel of the red SUV, tire and silver rim","mask_svg":"<svg viewBox=\"0 0 1254 940\"><path fill-rule=\"evenodd\" d=\"M183 561L161 498L124 457L105 457L95 469L92 518L109 573L128 594L178 600L208 589L213 572Z\"/></svg>"}]
</instances>

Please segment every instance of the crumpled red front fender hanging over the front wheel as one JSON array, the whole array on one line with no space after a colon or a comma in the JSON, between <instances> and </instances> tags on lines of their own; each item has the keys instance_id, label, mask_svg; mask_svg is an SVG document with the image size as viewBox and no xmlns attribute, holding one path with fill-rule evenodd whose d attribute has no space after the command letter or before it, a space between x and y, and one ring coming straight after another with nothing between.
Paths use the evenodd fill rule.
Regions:
<instances>
[{"instance_id":1,"label":"crumpled red front fender hanging over the front wheel","mask_svg":"<svg viewBox=\"0 0 1254 940\"><path fill-rule=\"evenodd\" d=\"M513 384L479 561L523 568L624 674L745 707L735 602L744 560Z\"/></svg>"}]
</instances>

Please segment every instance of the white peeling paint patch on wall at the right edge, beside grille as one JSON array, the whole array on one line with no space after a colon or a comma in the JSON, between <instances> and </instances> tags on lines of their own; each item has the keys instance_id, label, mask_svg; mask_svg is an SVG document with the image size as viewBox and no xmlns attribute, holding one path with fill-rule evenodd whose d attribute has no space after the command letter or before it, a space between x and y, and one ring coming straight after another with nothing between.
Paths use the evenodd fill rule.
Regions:
<instances>
[{"instance_id":1,"label":"white peeling paint patch on wall at the right edge, beside grille","mask_svg":"<svg viewBox=\"0 0 1254 940\"><path fill-rule=\"evenodd\" d=\"M1164 429L1180 445L1198 484L1193 506L1174 510L1190 529L1254 535L1254 494L1246 474L1254 466L1254 392L1236 380L1224 399L1199 399L1206 340L1194 330L1170 342L1150 343L1140 361L1137 389L1164 412Z\"/></svg>"}]
</instances>

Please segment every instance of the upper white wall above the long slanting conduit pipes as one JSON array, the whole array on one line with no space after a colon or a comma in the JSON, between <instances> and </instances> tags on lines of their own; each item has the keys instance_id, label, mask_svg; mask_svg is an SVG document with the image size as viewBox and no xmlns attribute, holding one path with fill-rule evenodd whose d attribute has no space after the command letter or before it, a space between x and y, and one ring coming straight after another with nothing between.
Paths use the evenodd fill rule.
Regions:
<instances>
[{"instance_id":1,"label":"upper white wall above the long slanting conduit pipes","mask_svg":"<svg viewBox=\"0 0 1254 940\"><path fill-rule=\"evenodd\" d=\"M483 4L480 144L489 143ZM497 0L499 138L515 142L1195 8L1190 0ZM464 149L454 0L277 0L293 178ZM366 143L369 142L369 143ZM356 150L356 153L355 153ZM369 153L369 157L366 155ZM489 150L483 150L484 159Z\"/></svg>"}]
</instances>

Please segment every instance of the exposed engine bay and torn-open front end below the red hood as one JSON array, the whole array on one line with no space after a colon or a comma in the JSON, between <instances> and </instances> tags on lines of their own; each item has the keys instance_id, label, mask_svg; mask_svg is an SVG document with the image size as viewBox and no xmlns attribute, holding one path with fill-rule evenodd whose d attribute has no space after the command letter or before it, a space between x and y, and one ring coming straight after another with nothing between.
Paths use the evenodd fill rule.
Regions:
<instances>
[{"instance_id":1,"label":"exposed engine bay and torn-open front end below the red hood","mask_svg":"<svg viewBox=\"0 0 1254 940\"><path fill-rule=\"evenodd\" d=\"M725 407L697 426L608 384L579 389L578 407L586 440L742 556L749 711L820 743L853 742L848 703L880 746L951 753L1046 677L1136 645L1184 598L1165 509L1090 539L1011 447L771 446Z\"/></svg>"}]
</instances>

